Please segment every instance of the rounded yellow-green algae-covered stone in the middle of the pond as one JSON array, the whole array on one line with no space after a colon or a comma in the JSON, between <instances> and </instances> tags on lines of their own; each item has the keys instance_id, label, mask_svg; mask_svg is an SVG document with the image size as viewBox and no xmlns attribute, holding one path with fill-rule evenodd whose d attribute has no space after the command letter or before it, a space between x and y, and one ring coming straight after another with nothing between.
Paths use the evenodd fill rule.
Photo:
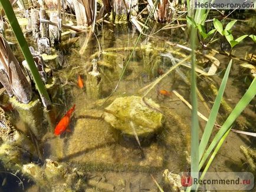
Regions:
<instances>
[{"instance_id":1,"label":"rounded yellow-green algae-covered stone in the middle of the pond","mask_svg":"<svg viewBox=\"0 0 256 192\"><path fill-rule=\"evenodd\" d=\"M133 136L133 128L138 136L155 133L162 126L163 115L158 111L159 105L142 97L130 96L116 98L105 108L104 120L123 134Z\"/></svg>"}]
</instances>

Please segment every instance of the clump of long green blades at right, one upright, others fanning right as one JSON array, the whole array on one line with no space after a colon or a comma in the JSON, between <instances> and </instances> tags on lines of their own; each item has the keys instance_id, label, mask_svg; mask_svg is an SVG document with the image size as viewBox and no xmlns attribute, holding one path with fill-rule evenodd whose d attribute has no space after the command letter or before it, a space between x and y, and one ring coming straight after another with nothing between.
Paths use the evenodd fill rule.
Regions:
<instances>
[{"instance_id":1,"label":"clump of long green blades at right, one upright, others fanning right","mask_svg":"<svg viewBox=\"0 0 256 192\"><path fill-rule=\"evenodd\" d=\"M218 24L219 25L219 24ZM228 25L229 27L231 26ZM195 39L196 35L196 28L192 26L192 32L191 32L191 38ZM219 27L219 31L221 28ZM223 30L222 30L223 31ZM192 50L195 49L195 40L191 41L191 47ZM192 51L192 84L191 84L191 90L192 90L192 127L191 127L191 175L193 178L198 177L198 171L201 170L201 168L205 165L205 168L203 170L203 174L200 177L201 179L204 178L206 171L208 171L209 166L211 165L212 161L214 160L214 157L219 151L219 148L224 143L225 138L229 134L229 131L231 130L232 124L235 122L235 120L238 118L238 116L241 114L241 112L247 107L247 105L250 103L250 101L255 97L256 95L256 78L252 81L250 87L245 92L244 96L241 98L241 100L238 102L238 104L235 106L234 110L232 110L231 114L229 114L227 120L224 122L224 124L219 129L218 133L215 135L214 139L211 143L209 143L209 137L212 133L212 128L214 127L214 123L216 121L216 116L219 111L219 106L221 104L222 96L224 94L225 85L227 84L228 80L228 74L231 68L232 60L229 62L229 65L226 69L224 78L221 82L221 87L219 88L218 95L216 96L214 105L212 107L211 113L209 115L208 123L205 126L204 133L202 135L202 140L199 144L199 133L198 133L198 117L197 117L197 102L196 102L196 78L195 78L195 53ZM209 145L207 150L205 150L206 146ZM214 151L213 151L214 150ZM212 152L213 151L213 152ZM209 155L211 157L208 159ZM195 173L194 173L195 172ZM194 186L195 187L195 186ZM198 188L198 186L196 186ZM186 191L191 191L191 187L188 187Z\"/></svg>"}]
</instances>

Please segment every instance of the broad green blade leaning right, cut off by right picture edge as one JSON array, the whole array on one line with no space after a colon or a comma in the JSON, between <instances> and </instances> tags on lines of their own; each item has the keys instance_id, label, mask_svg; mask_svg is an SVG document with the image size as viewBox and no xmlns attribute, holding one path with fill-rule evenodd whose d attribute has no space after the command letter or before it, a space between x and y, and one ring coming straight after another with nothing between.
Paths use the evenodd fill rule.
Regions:
<instances>
[{"instance_id":1,"label":"broad green blade leaning right, cut off by right picture edge","mask_svg":"<svg viewBox=\"0 0 256 192\"><path fill-rule=\"evenodd\" d=\"M250 101L255 97L255 95L256 95L256 77L252 81L248 90L245 92L244 96L242 96L241 100L235 106L234 110L228 116L227 120L224 122L221 129L215 135L214 140L209 145L208 149L206 150L205 154L202 157L202 160L200 161L199 168L202 168L206 159L209 157L209 154L211 154L211 152L214 149L214 147L216 146L216 144L218 144L219 140L221 140L223 135L228 130L230 130L232 124L235 122L235 120L238 118L238 116L241 114L241 112L245 109L245 107L247 107L247 105L250 103Z\"/></svg>"}]
</instances>

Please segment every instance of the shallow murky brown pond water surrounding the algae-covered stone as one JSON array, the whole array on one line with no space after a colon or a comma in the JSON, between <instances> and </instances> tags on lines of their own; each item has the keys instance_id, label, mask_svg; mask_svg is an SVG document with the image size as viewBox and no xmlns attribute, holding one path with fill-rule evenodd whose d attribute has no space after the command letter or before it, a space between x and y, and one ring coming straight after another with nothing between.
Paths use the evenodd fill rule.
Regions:
<instances>
[{"instance_id":1,"label":"shallow murky brown pond water surrounding the algae-covered stone","mask_svg":"<svg viewBox=\"0 0 256 192\"><path fill-rule=\"evenodd\" d=\"M157 191L152 176L160 186L168 190L163 182L164 170L168 169L177 174L189 171L191 110L173 92L163 95L160 91L175 90L185 100L191 102L189 100L190 69L180 66L179 71L170 72L146 95L146 98L159 104L163 120L162 127L157 133L150 137L146 136L146 138L139 137L141 148L136 141L136 135L129 137L114 130L109 123L104 121L103 114L106 112L104 108L118 97L131 95L142 97L149 90L146 86L172 67L168 54L172 54L176 62L188 56L189 51L166 42L168 39L169 42L188 46L185 32L181 29L172 29L172 31L155 35L157 38L142 37L113 94L111 92L122 75L138 34L126 26L98 28L96 34L97 38L92 36L88 43L86 43L88 38L86 35L72 37L70 34L69 37L64 37L61 48L64 55L62 66L55 64L55 61L46 62L48 67L52 68L52 75L55 78L54 87L49 91L54 108L48 113L44 112L48 117L40 120L42 121L41 128L47 130L44 137L38 140L41 162L50 158L72 168L79 168L86 175L83 180L103 181L114 186L115 191ZM247 51L255 54L255 45L245 41L235 48L233 54L243 58ZM83 54L80 55L79 52ZM204 54L211 55L212 53L204 51ZM199 74L198 77L198 90L209 108L215 99L210 85L219 87L229 62L229 58L224 55L215 54L214 57L220 62L216 75L206 77ZM198 56L198 61L199 67L205 69L205 72L211 67L212 62L202 55ZM100 77L96 78L98 87L95 87L95 81L89 78L93 62L97 62L97 71L100 73ZM186 64L189 65L189 61ZM224 95L227 105L231 108L235 107L248 88L247 81L250 74L239 64L241 61L234 60ZM84 88L77 85L78 75L83 78ZM208 117L209 111L204 102L198 101L198 111ZM55 136L56 123L74 104L76 104L76 110L71 117L69 126L71 132ZM12 117L19 117L17 112L12 111L12 113ZM222 124L228 114L227 108L221 107L218 124ZM27 122L29 121L31 120ZM202 131L205 121L201 118L199 121ZM27 133L26 127L29 125L24 123L24 117L17 118L14 123L19 130ZM255 132L255 124L254 100L233 128ZM214 133L216 131L218 131L217 128ZM239 150L241 145L251 147L255 145L255 139L231 132L209 171L247 170L247 160ZM88 184L87 187L86 191L96 191L93 190L95 187L93 184ZM29 191L29 188L27 190Z\"/></svg>"}]
</instances>

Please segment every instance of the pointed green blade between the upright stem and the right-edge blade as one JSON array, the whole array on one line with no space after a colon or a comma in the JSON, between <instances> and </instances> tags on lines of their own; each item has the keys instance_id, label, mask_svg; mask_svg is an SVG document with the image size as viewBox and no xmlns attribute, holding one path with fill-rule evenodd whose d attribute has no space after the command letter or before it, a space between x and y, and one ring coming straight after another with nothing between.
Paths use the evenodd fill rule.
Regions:
<instances>
[{"instance_id":1,"label":"pointed green blade between the upright stem and the right-edge blade","mask_svg":"<svg viewBox=\"0 0 256 192\"><path fill-rule=\"evenodd\" d=\"M227 70L225 72L224 78L221 82L221 86L219 87L219 91L218 94L216 96L214 105L212 106L212 110L211 113L209 115L208 121L205 125L205 130L204 130L204 134L202 135L202 140L200 142L199 145L199 159L202 158L202 154L205 151L206 145L208 144L209 138L211 136L212 133L212 128L214 128L214 123L216 120L216 117L218 115L218 111L219 111L219 106L221 105L221 100L224 94L224 90L228 81L228 75L229 75L229 71L231 68L231 64L232 64L232 59L229 61Z\"/></svg>"}]
</instances>

